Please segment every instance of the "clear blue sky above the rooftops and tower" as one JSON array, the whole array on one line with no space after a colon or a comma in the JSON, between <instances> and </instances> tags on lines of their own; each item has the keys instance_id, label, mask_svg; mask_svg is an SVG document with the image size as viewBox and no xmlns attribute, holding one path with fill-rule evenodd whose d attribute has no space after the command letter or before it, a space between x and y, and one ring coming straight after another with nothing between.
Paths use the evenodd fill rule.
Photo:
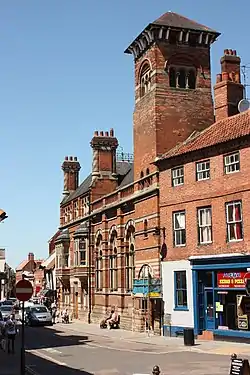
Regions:
<instances>
[{"instance_id":1,"label":"clear blue sky above the rooftops and tower","mask_svg":"<svg viewBox=\"0 0 250 375\"><path fill-rule=\"evenodd\" d=\"M0 4L0 247L16 267L28 252L46 258L59 225L61 163L78 156L90 172L94 130L115 128L132 151L134 75L124 49L171 10L222 33L225 48L250 63L249 0L2 0ZM250 81L249 81L250 83Z\"/></svg>"}]
</instances>

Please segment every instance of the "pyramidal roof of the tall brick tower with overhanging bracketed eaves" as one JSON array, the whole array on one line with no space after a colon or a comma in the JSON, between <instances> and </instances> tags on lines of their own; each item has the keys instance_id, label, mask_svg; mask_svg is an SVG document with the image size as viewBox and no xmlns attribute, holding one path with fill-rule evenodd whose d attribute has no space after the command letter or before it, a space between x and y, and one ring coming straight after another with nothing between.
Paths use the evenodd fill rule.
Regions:
<instances>
[{"instance_id":1,"label":"pyramidal roof of the tall brick tower with overhanging bracketed eaves","mask_svg":"<svg viewBox=\"0 0 250 375\"><path fill-rule=\"evenodd\" d=\"M146 26L125 50L125 53L133 54L137 59L153 43L160 40L168 43L173 34L179 44L188 45L192 40L192 46L197 44L204 47L209 47L220 35L219 32L180 14L167 12ZM173 38L171 38L171 42L173 42Z\"/></svg>"}]
</instances>

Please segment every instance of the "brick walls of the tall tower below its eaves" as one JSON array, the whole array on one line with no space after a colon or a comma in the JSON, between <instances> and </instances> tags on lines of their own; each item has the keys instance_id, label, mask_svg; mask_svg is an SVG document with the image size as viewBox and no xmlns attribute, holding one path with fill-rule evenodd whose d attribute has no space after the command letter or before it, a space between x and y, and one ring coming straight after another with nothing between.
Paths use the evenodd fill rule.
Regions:
<instances>
[{"instance_id":1,"label":"brick walls of the tall tower below its eaves","mask_svg":"<svg viewBox=\"0 0 250 375\"><path fill-rule=\"evenodd\" d=\"M145 61L151 66L151 91L140 98ZM196 90L170 87L166 63L195 66ZM135 64L135 97L134 160L139 178L156 156L214 122L209 48L153 45Z\"/></svg>"}]
</instances>

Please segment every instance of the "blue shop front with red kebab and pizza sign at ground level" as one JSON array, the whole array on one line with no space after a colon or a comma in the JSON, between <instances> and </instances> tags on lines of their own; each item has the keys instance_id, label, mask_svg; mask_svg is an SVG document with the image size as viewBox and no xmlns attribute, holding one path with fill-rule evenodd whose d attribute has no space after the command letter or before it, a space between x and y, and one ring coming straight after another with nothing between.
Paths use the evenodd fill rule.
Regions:
<instances>
[{"instance_id":1,"label":"blue shop front with red kebab and pizza sign at ground level","mask_svg":"<svg viewBox=\"0 0 250 375\"><path fill-rule=\"evenodd\" d=\"M194 295L194 330L214 336L250 339L250 319L240 309L250 278L250 255L190 257Z\"/></svg>"}]
</instances>

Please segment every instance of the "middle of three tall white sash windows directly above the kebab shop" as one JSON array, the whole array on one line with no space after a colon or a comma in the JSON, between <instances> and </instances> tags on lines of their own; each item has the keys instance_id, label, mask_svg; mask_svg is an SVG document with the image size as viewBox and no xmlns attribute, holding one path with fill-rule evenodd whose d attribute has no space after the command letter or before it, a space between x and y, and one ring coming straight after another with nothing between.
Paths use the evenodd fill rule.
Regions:
<instances>
[{"instance_id":1,"label":"middle of three tall white sash windows directly above the kebab shop","mask_svg":"<svg viewBox=\"0 0 250 375\"><path fill-rule=\"evenodd\" d=\"M198 208L198 239L199 244L212 243L212 209Z\"/></svg>"}]
</instances>

